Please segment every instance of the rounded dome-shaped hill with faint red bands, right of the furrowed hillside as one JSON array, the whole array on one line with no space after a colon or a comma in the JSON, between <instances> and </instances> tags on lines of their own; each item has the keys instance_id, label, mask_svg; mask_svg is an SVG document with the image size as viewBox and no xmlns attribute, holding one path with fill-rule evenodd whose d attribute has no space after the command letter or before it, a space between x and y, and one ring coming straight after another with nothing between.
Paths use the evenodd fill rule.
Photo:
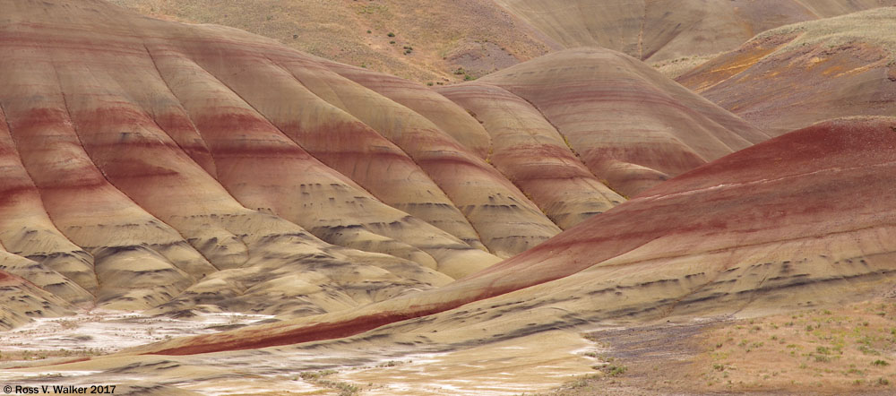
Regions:
<instances>
[{"instance_id":1,"label":"rounded dome-shaped hill with faint red bands, right of the furrowed hillside","mask_svg":"<svg viewBox=\"0 0 896 396\"><path fill-rule=\"evenodd\" d=\"M538 110L593 176L625 196L767 138L607 49L557 52L465 85L496 85L529 102L528 111Z\"/></svg>"}]
</instances>

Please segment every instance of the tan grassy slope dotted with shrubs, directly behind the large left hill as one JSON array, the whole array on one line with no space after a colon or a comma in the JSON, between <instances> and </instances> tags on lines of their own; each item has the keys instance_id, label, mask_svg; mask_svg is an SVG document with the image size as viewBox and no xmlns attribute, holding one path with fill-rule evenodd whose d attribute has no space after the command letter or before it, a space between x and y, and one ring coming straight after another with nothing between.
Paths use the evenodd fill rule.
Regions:
<instances>
[{"instance_id":1,"label":"tan grassy slope dotted with shrubs, directly behind the large left hill","mask_svg":"<svg viewBox=\"0 0 896 396\"><path fill-rule=\"evenodd\" d=\"M465 74L454 73L459 67L479 76L559 48L490 0L112 3L153 17L247 30L315 56L417 82L461 81Z\"/></svg>"}]
</instances>

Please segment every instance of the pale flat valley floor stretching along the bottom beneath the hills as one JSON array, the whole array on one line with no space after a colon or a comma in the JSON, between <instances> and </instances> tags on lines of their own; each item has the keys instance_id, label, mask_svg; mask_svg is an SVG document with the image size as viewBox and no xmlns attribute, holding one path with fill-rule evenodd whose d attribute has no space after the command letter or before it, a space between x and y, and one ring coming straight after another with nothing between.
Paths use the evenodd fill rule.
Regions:
<instances>
[{"instance_id":1,"label":"pale flat valley floor stretching along the bottom beneath the hills","mask_svg":"<svg viewBox=\"0 0 896 396\"><path fill-rule=\"evenodd\" d=\"M4 335L0 365L31 367L4 370L0 382L120 383L215 395L896 392L892 298L756 318L546 331L453 350L362 338L186 357L113 353L264 319L93 312L44 320ZM90 360L47 366L85 357Z\"/></svg>"}]
</instances>

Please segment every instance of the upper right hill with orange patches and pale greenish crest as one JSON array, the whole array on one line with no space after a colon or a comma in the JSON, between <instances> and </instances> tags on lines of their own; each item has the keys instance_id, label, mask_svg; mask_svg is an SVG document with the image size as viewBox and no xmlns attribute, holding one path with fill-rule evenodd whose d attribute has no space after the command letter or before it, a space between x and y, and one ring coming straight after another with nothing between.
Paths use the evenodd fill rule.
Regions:
<instances>
[{"instance_id":1,"label":"upper right hill with orange patches and pale greenish crest","mask_svg":"<svg viewBox=\"0 0 896 396\"><path fill-rule=\"evenodd\" d=\"M677 79L772 134L896 108L896 7L763 32Z\"/></svg>"}]
</instances>

